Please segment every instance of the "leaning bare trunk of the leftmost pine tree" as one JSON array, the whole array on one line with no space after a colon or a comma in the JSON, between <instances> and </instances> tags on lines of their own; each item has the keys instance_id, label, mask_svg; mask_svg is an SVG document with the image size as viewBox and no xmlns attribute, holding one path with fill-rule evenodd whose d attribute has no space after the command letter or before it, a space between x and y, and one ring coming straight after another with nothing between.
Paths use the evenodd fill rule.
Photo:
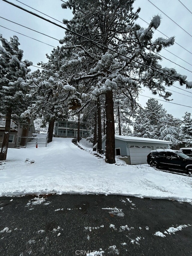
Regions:
<instances>
[{"instance_id":1,"label":"leaning bare trunk of the leftmost pine tree","mask_svg":"<svg viewBox=\"0 0 192 256\"><path fill-rule=\"evenodd\" d=\"M10 134L10 126L11 126L11 113L12 110L9 109L6 114L6 121L5 121L5 132L0 152L0 160L6 160L7 158L7 149L9 145L9 134Z\"/></svg>"}]
</instances>

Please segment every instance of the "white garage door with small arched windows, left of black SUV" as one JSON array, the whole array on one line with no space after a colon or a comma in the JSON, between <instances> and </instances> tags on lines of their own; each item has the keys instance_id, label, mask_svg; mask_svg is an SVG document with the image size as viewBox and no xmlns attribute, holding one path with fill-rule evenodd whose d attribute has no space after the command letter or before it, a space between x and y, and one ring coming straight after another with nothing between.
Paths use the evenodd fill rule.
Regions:
<instances>
[{"instance_id":1,"label":"white garage door with small arched windows, left of black SUV","mask_svg":"<svg viewBox=\"0 0 192 256\"><path fill-rule=\"evenodd\" d=\"M135 146L131 145L130 150L130 159L131 164L146 164L147 155L151 152L152 146Z\"/></svg>"}]
</instances>

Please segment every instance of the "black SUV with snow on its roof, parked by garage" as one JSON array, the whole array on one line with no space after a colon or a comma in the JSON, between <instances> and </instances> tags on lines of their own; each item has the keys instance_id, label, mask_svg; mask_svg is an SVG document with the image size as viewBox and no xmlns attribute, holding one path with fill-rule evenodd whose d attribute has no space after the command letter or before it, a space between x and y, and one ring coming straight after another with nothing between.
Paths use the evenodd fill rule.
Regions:
<instances>
[{"instance_id":1,"label":"black SUV with snow on its roof, parked by garage","mask_svg":"<svg viewBox=\"0 0 192 256\"><path fill-rule=\"evenodd\" d=\"M183 170L186 173L192 172L192 158L179 150L152 150L147 156L147 163L150 164L151 167Z\"/></svg>"}]
</instances>

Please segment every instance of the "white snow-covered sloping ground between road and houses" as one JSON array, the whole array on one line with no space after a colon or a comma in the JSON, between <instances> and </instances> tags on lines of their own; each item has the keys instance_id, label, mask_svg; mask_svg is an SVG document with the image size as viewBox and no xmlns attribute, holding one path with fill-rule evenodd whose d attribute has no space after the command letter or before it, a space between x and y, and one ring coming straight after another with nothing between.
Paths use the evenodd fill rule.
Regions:
<instances>
[{"instance_id":1,"label":"white snow-covered sloping ground between road and houses","mask_svg":"<svg viewBox=\"0 0 192 256\"><path fill-rule=\"evenodd\" d=\"M40 134L42 136L42 134ZM55 138L47 147L8 149L0 162L0 196L25 194L116 194L192 202L192 177L148 164L107 164L85 139Z\"/></svg>"}]
</instances>

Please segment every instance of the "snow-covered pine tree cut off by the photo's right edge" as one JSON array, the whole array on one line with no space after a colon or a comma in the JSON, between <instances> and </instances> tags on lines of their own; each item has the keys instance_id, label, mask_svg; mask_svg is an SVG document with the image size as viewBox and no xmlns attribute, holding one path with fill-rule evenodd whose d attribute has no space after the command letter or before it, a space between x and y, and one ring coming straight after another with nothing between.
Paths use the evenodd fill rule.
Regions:
<instances>
[{"instance_id":1,"label":"snow-covered pine tree cut off by the photo's right edge","mask_svg":"<svg viewBox=\"0 0 192 256\"><path fill-rule=\"evenodd\" d=\"M185 112L183 116L180 139L187 142L187 146L192 146L192 118L191 113Z\"/></svg>"}]
</instances>

